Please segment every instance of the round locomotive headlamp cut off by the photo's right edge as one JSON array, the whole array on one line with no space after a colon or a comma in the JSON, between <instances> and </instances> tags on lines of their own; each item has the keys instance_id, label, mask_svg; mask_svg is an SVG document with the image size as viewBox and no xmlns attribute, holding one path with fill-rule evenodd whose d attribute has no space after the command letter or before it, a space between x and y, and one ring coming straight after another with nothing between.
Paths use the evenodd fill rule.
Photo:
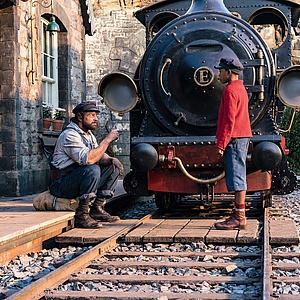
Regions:
<instances>
[{"instance_id":1,"label":"round locomotive headlamp cut off by the photo's right edge","mask_svg":"<svg viewBox=\"0 0 300 300\"><path fill-rule=\"evenodd\" d=\"M276 86L283 104L293 108L300 107L300 66L291 66L283 71Z\"/></svg>"}]
</instances>

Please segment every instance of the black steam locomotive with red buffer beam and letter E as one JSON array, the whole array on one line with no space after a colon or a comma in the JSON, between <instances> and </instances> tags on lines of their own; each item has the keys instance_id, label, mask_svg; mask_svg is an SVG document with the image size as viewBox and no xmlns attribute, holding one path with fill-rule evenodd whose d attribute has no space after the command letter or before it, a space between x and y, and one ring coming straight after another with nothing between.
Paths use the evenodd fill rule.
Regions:
<instances>
[{"instance_id":1,"label":"black steam locomotive with red buffer beam and letter E","mask_svg":"<svg viewBox=\"0 0 300 300\"><path fill-rule=\"evenodd\" d=\"M135 13L147 45L136 74L107 74L98 87L109 109L130 112L129 194L154 194L168 209L185 196L209 204L228 193L212 151L224 89L214 66L227 56L242 62L249 96L247 192L269 206L272 194L295 189L281 126L285 108L300 106L291 50L299 16L297 0L165 0Z\"/></svg>"}]
</instances>

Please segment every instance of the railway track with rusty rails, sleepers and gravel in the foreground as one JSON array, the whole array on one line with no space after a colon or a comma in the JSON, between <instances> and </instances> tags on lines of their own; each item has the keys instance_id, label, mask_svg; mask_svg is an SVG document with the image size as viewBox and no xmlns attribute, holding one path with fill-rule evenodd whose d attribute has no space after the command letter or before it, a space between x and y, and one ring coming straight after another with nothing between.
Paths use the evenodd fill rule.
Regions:
<instances>
[{"instance_id":1,"label":"railway track with rusty rails, sleepers and gravel in the foreground","mask_svg":"<svg viewBox=\"0 0 300 300\"><path fill-rule=\"evenodd\" d=\"M257 251L246 245L238 251L222 245L203 250L193 242L191 251L190 243L124 243L128 233L155 214L136 220L7 299L295 299L273 293L279 282L300 282L288 276L289 270L300 269L300 254L273 253L269 244L266 224L278 217L278 210L265 209Z\"/></svg>"}]
</instances>

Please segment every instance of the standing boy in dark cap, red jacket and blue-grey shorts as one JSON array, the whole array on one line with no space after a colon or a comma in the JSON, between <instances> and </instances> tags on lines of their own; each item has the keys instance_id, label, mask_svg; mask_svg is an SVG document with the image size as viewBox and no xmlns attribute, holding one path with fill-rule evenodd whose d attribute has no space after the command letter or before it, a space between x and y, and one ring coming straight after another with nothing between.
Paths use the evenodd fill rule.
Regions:
<instances>
[{"instance_id":1,"label":"standing boy in dark cap, red jacket and blue-grey shorts","mask_svg":"<svg viewBox=\"0 0 300 300\"><path fill-rule=\"evenodd\" d=\"M232 215L217 222L217 229L246 226L246 157L252 130L248 113L248 94L239 74L244 69L234 57L221 58L218 66L220 82L227 83L218 114L216 133L217 153L224 156L225 180L229 192L234 191L235 207Z\"/></svg>"}]
</instances>

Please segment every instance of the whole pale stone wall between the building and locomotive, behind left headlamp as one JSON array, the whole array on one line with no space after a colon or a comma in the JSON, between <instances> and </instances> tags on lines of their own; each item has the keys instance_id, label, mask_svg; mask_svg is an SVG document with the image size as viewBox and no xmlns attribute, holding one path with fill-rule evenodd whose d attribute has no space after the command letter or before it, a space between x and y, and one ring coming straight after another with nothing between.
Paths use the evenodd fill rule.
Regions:
<instances>
[{"instance_id":1,"label":"whole pale stone wall between the building and locomotive, behind left headlamp","mask_svg":"<svg viewBox=\"0 0 300 300\"><path fill-rule=\"evenodd\" d=\"M106 0L94 1L93 9L97 32L86 38L87 99L101 103L98 84L104 75L122 72L131 78L145 52L145 28L133 12L157 1ZM119 139L109 151L117 156L129 171L129 114L123 117L111 113L101 105L99 139L117 128Z\"/></svg>"}]
</instances>

